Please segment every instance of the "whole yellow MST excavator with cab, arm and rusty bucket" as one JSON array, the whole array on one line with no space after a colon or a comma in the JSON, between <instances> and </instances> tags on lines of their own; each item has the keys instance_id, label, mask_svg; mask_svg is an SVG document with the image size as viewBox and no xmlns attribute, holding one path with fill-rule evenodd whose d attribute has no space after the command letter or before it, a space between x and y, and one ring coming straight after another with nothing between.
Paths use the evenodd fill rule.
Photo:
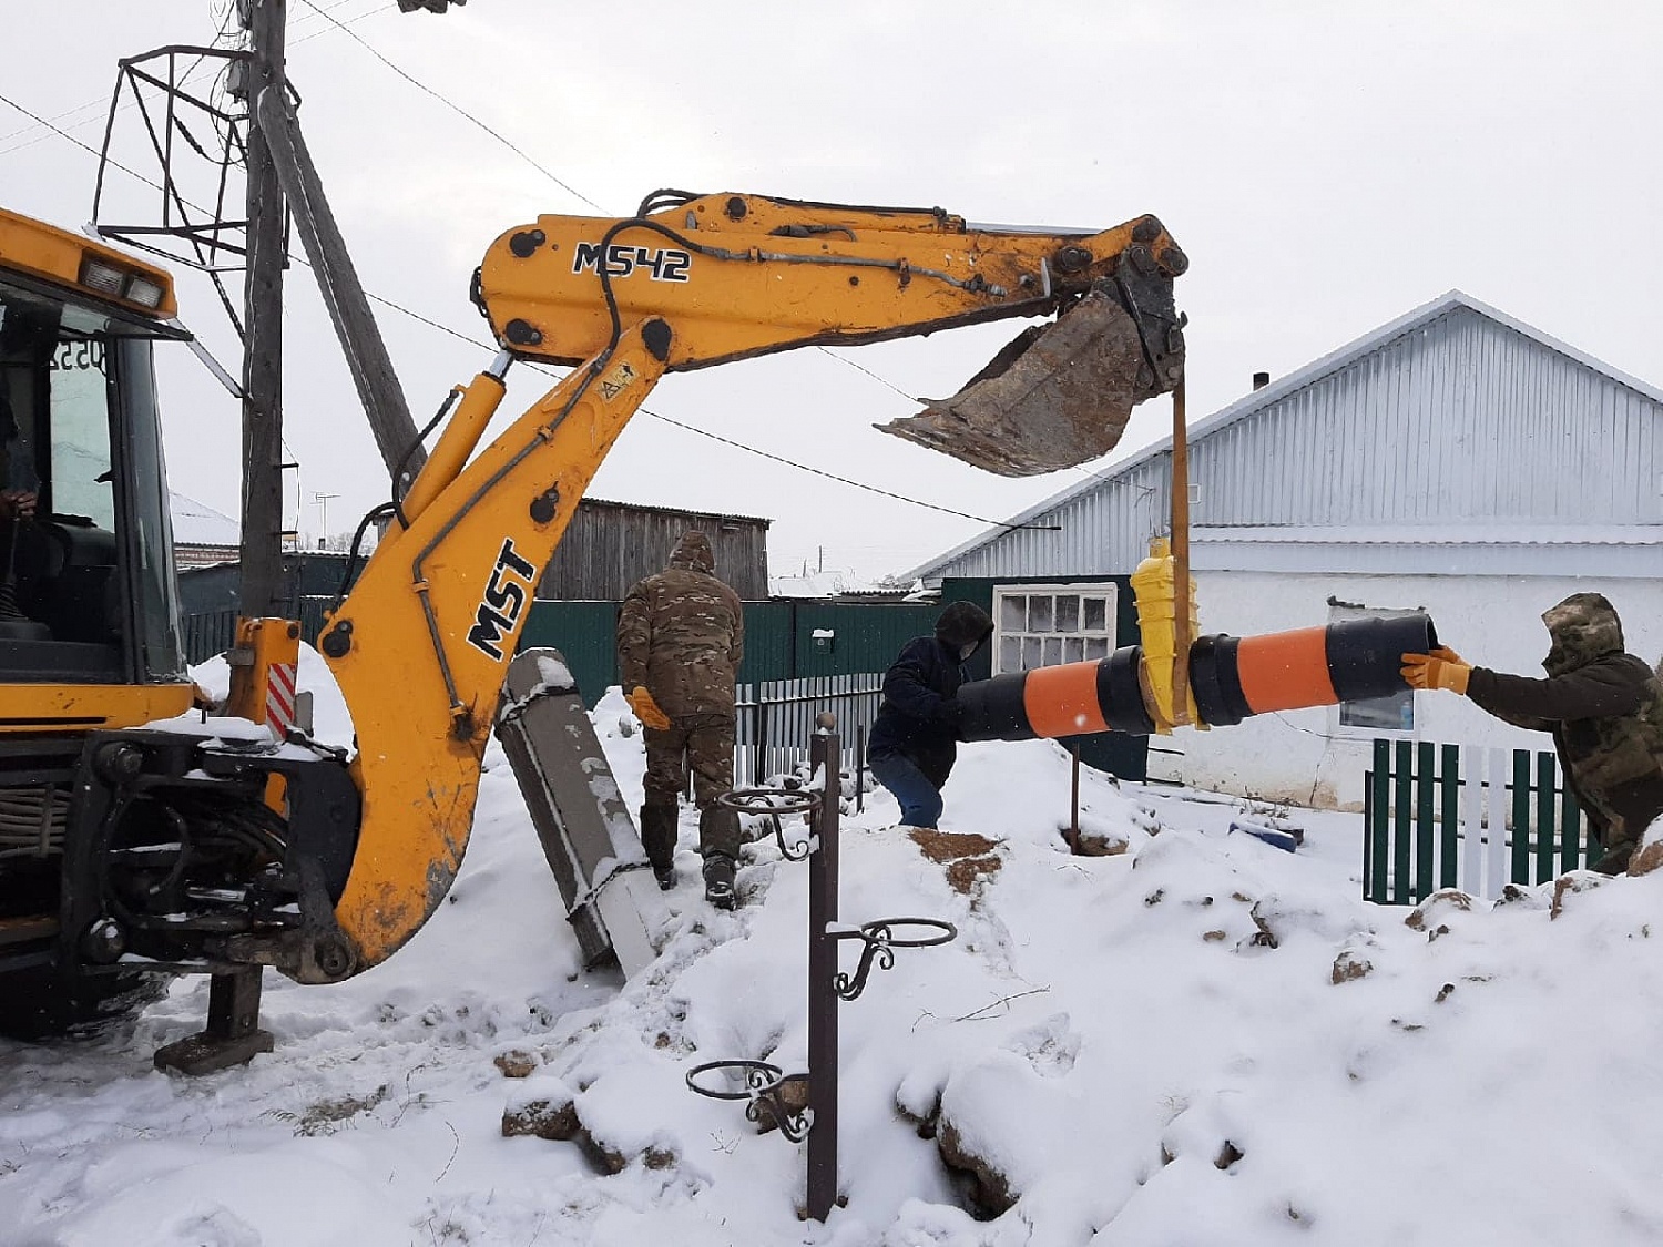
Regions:
<instances>
[{"instance_id":1,"label":"whole yellow MST excavator with cab, arm and rusty bucket","mask_svg":"<svg viewBox=\"0 0 1663 1247\"><path fill-rule=\"evenodd\" d=\"M258 1008L261 966L331 983L407 941L462 861L537 582L665 372L1054 318L886 429L1001 474L1054 471L1181 381L1186 266L1152 216L1048 231L758 195L659 191L629 218L506 231L472 283L501 354L452 391L316 638L353 715L346 753L191 718L151 377L153 344L185 336L171 281L0 213L3 485L35 499L0 500L0 1029L108 1016L156 973L254 968ZM570 371L479 449L517 359ZM243 620L228 713L283 708L296 643L298 625ZM210 1031L248 1006L215 996Z\"/></svg>"}]
</instances>

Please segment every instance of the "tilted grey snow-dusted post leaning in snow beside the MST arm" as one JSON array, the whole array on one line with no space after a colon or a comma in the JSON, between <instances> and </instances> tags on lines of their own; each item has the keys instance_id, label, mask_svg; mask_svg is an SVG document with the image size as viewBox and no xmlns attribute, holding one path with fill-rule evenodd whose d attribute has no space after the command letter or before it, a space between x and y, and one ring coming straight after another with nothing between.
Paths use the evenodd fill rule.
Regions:
<instances>
[{"instance_id":1,"label":"tilted grey snow-dusted post leaning in snow beside the MST arm","mask_svg":"<svg viewBox=\"0 0 1663 1247\"><path fill-rule=\"evenodd\" d=\"M497 737L560 886L584 964L607 951L625 976L659 956L669 909L629 806L559 650L509 663Z\"/></svg>"}]
</instances>

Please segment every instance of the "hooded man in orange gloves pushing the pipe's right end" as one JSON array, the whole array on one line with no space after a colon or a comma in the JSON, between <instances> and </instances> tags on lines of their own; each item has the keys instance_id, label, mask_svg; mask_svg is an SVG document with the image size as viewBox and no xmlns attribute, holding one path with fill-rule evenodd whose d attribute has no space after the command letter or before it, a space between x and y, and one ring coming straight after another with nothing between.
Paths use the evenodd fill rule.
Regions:
<instances>
[{"instance_id":1,"label":"hooded man in orange gloves pushing the pipe's right end","mask_svg":"<svg viewBox=\"0 0 1663 1247\"><path fill-rule=\"evenodd\" d=\"M1623 625L1601 594L1572 594L1542 615L1553 647L1545 680L1465 663L1453 650L1405 653L1414 688L1465 693L1515 727L1552 732L1565 783L1603 846L1593 870L1628 868L1663 815L1663 683L1623 652Z\"/></svg>"}]
</instances>

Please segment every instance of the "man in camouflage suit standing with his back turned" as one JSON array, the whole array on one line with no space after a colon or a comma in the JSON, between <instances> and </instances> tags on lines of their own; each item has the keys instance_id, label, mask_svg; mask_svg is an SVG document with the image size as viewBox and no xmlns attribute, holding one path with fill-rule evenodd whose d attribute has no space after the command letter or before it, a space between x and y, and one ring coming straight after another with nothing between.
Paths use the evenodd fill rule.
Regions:
<instances>
[{"instance_id":1,"label":"man in camouflage suit standing with his back turned","mask_svg":"<svg viewBox=\"0 0 1663 1247\"><path fill-rule=\"evenodd\" d=\"M619 612L619 678L647 737L640 838L660 888L675 886L675 810L693 771L705 896L733 906L738 815L717 805L733 786L733 675L745 609L715 577L710 539L687 532L670 565L629 590Z\"/></svg>"}]
</instances>

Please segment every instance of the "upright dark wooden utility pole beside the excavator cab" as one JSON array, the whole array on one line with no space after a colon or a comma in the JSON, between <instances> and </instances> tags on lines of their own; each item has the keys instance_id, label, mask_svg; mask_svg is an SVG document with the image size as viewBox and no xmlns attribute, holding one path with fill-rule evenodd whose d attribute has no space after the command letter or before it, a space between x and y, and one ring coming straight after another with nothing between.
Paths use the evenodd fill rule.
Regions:
<instances>
[{"instance_id":1,"label":"upright dark wooden utility pole beside the excavator cab","mask_svg":"<svg viewBox=\"0 0 1663 1247\"><path fill-rule=\"evenodd\" d=\"M283 585L284 201L259 126L261 91L283 98L286 0L238 0L248 30L248 273L243 316L243 547L238 604L248 619L286 617Z\"/></svg>"}]
</instances>

